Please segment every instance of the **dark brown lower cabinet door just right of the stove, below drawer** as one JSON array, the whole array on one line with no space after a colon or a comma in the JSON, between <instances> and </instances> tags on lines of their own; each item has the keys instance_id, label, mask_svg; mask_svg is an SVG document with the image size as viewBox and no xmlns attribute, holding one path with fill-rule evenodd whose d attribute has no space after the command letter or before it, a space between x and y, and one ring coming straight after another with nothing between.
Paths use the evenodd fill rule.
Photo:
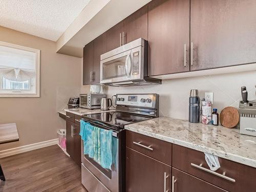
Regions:
<instances>
[{"instance_id":1,"label":"dark brown lower cabinet door just right of the stove, below drawer","mask_svg":"<svg viewBox=\"0 0 256 192\"><path fill-rule=\"evenodd\" d=\"M170 191L172 167L126 147L126 192Z\"/></svg>"}]
</instances>

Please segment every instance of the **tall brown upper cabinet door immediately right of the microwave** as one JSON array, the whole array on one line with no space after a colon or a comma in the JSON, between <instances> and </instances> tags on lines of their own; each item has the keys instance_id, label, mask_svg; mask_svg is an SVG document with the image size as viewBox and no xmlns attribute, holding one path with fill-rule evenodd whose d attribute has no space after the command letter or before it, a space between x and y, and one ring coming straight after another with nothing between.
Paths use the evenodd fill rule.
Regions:
<instances>
[{"instance_id":1,"label":"tall brown upper cabinet door immediately right of the microwave","mask_svg":"<svg viewBox=\"0 0 256 192\"><path fill-rule=\"evenodd\" d=\"M148 5L148 75L189 71L189 0Z\"/></svg>"}]
</instances>

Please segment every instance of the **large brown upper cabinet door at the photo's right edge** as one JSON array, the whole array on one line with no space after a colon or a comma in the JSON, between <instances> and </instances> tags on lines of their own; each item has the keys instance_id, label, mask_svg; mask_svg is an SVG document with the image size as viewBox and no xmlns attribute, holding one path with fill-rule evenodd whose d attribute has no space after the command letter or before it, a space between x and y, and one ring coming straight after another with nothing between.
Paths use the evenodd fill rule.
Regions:
<instances>
[{"instance_id":1,"label":"large brown upper cabinet door at the photo's right edge","mask_svg":"<svg viewBox=\"0 0 256 192\"><path fill-rule=\"evenodd\" d=\"M191 0L191 71L256 61L255 0Z\"/></svg>"}]
</instances>

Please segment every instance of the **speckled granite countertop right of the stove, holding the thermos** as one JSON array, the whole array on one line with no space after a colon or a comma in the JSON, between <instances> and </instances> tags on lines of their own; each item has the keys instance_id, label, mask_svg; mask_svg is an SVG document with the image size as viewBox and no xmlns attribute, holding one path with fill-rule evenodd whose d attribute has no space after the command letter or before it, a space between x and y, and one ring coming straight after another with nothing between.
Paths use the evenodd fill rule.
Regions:
<instances>
[{"instance_id":1,"label":"speckled granite countertop right of the stove, holding the thermos","mask_svg":"<svg viewBox=\"0 0 256 192\"><path fill-rule=\"evenodd\" d=\"M256 168L256 137L241 135L238 129L168 117L125 125L125 129Z\"/></svg>"}]
</instances>

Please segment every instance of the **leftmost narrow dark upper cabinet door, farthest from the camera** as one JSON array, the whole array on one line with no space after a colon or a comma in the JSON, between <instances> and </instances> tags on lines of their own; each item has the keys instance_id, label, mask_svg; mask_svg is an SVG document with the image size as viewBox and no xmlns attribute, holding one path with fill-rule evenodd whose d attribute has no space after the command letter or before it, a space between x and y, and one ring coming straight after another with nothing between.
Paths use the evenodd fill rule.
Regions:
<instances>
[{"instance_id":1,"label":"leftmost narrow dark upper cabinet door, farthest from the camera","mask_svg":"<svg viewBox=\"0 0 256 192\"><path fill-rule=\"evenodd\" d=\"M83 84L92 83L93 71L93 42L89 42L83 48Z\"/></svg>"}]
</instances>

